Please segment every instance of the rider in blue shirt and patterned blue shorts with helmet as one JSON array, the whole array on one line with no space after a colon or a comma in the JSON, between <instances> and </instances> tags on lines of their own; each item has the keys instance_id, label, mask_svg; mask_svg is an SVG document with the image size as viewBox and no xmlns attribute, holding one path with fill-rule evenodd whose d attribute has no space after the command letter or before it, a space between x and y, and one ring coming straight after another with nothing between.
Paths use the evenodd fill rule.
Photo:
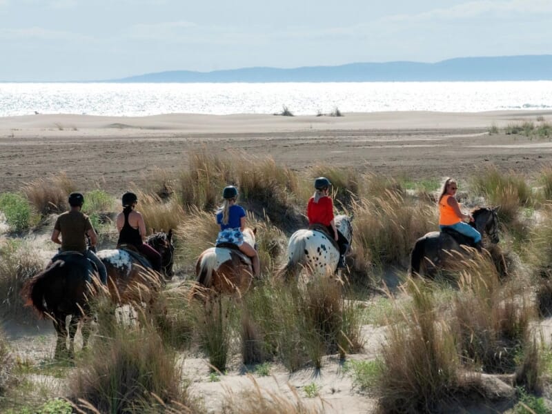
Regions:
<instances>
[{"instance_id":1,"label":"rider in blue shirt and patterned blue shorts with helmet","mask_svg":"<svg viewBox=\"0 0 552 414\"><path fill-rule=\"evenodd\" d=\"M237 188L226 186L222 191L222 206L217 210L217 224L220 225L216 244L235 244L239 250L251 259L253 276L259 277L259 255L254 246L244 241L244 228L246 228L246 210L236 204Z\"/></svg>"}]
</instances>

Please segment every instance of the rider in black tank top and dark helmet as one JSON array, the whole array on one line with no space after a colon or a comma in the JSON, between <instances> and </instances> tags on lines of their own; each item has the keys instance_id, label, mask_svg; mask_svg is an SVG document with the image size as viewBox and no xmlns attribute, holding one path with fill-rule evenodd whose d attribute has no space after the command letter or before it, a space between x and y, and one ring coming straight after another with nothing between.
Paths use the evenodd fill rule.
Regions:
<instances>
[{"instance_id":1,"label":"rider in black tank top and dark helmet","mask_svg":"<svg viewBox=\"0 0 552 414\"><path fill-rule=\"evenodd\" d=\"M144 243L146 240L146 224L144 223L144 217L135 210L138 197L135 193L126 192L121 197L121 201L123 211L115 219L119 231L117 246L121 244L134 246L139 253L150 261L152 269L161 273L161 255L155 248Z\"/></svg>"}]
</instances>

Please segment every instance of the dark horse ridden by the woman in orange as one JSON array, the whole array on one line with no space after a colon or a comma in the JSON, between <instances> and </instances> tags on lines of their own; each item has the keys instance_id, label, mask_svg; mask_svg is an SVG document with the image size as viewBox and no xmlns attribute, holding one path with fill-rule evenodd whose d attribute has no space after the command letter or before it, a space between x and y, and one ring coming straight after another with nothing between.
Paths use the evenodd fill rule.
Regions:
<instances>
[{"instance_id":1,"label":"dark horse ridden by the woman in orange","mask_svg":"<svg viewBox=\"0 0 552 414\"><path fill-rule=\"evenodd\" d=\"M474 219L470 223L471 226L475 227L482 235L484 233L489 235L492 243L498 243L500 239L498 237L497 208L480 207L473 210L471 214ZM452 234L452 232L453 230L433 231L417 239L411 253L408 274L432 275L437 268L451 267L450 263L447 263L447 259L452 258L454 262L458 262L458 256L451 255L450 252L461 255L469 253L469 249L462 248L462 245L473 247L473 239L457 232Z\"/></svg>"}]
</instances>

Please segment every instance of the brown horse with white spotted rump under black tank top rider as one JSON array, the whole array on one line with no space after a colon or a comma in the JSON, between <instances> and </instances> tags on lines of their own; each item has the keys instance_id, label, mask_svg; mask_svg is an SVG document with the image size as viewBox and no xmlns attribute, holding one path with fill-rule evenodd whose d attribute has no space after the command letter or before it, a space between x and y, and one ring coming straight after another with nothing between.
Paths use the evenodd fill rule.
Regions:
<instances>
[{"instance_id":1,"label":"brown horse with white spotted rump under black tank top rider","mask_svg":"<svg viewBox=\"0 0 552 414\"><path fill-rule=\"evenodd\" d=\"M170 279L175 250L172 230L154 233L146 239L146 243L159 252L163 276ZM145 258L139 260L122 248L100 250L97 256L108 270L108 288L114 301L119 304L152 304L163 280Z\"/></svg>"}]
</instances>

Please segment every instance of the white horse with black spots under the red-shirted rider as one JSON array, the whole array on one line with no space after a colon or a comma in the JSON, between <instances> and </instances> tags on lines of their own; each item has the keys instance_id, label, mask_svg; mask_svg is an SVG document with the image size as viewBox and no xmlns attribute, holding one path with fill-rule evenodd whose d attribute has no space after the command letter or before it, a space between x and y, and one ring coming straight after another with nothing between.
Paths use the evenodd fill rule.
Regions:
<instances>
[{"instance_id":1,"label":"white horse with black spots under the red-shirted rider","mask_svg":"<svg viewBox=\"0 0 552 414\"><path fill-rule=\"evenodd\" d=\"M345 236L349 246L353 239L351 218L335 216L335 226ZM287 251L288 262L279 270L279 275L289 279L297 278L301 267L310 275L322 277L333 274L339 262L339 250L326 233L318 230L302 229L291 235Z\"/></svg>"}]
</instances>

